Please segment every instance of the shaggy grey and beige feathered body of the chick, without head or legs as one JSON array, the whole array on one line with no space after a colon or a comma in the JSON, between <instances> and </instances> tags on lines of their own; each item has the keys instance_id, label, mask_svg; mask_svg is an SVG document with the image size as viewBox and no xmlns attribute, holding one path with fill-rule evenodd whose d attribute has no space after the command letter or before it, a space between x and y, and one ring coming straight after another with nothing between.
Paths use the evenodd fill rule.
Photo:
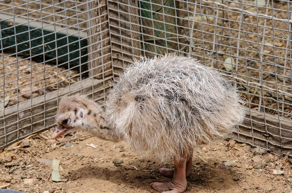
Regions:
<instances>
[{"instance_id":1,"label":"shaggy grey and beige feathered body of the chick, without head or legs","mask_svg":"<svg viewBox=\"0 0 292 193\"><path fill-rule=\"evenodd\" d=\"M166 55L135 61L106 102L111 128L137 151L161 161L226 137L243 121L237 90L193 58Z\"/></svg>"}]
</instances>

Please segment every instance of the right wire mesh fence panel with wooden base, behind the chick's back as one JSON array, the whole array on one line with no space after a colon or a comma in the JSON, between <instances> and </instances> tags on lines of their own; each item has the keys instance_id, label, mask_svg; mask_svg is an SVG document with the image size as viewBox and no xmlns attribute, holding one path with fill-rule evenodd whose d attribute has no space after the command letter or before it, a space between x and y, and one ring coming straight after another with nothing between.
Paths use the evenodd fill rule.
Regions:
<instances>
[{"instance_id":1,"label":"right wire mesh fence panel with wooden base, behind the chick's back","mask_svg":"<svg viewBox=\"0 0 292 193\"><path fill-rule=\"evenodd\" d=\"M131 0L109 0L108 4L113 75L139 53L197 57L229 78L246 101L245 122L232 138L285 154L292 149L292 2L139 0L135 5ZM139 23L133 23L137 17L133 10L139 12Z\"/></svg>"}]
</instances>

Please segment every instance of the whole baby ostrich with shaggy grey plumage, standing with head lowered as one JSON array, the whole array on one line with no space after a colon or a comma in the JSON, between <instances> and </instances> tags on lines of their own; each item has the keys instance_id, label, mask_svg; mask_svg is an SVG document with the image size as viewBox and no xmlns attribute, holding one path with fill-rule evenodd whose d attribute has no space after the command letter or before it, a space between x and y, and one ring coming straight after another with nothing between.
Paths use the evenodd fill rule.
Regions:
<instances>
[{"instance_id":1,"label":"whole baby ostrich with shaggy grey plumage, standing with head lowered","mask_svg":"<svg viewBox=\"0 0 292 193\"><path fill-rule=\"evenodd\" d=\"M193 58L166 55L135 61L113 85L105 110L85 96L59 104L55 139L85 130L110 141L127 140L174 169L159 172L168 183L151 183L164 193L183 193L192 169L193 148L232 132L244 117L236 89L216 70Z\"/></svg>"}]
</instances>

